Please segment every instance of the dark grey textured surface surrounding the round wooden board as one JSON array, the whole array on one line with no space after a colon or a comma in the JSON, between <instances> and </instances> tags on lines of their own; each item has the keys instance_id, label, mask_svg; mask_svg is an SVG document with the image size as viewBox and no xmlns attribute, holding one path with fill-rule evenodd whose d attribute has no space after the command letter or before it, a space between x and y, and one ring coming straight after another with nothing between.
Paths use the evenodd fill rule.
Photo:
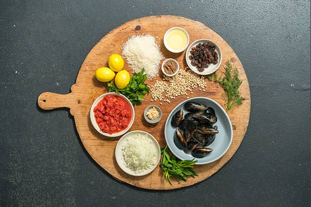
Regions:
<instances>
[{"instance_id":1,"label":"dark grey textured surface surrounding the round wooden board","mask_svg":"<svg viewBox=\"0 0 311 207\"><path fill-rule=\"evenodd\" d=\"M164 192L113 179L83 149L68 110L36 106L42 92L69 92L111 29L158 14L217 32L252 96L233 158L204 182ZM309 206L310 0L1 0L0 69L0 206Z\"/></svg>"}]
</instances>

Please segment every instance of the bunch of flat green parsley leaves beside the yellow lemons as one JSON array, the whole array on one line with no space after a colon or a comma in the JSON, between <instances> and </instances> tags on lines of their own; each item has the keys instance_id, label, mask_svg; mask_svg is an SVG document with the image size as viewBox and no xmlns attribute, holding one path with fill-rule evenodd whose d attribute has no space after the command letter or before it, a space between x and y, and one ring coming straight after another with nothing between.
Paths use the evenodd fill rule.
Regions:
<instances>
[{"instance_id":1,"label":"bunch of flat green parsley leaves beside the yellow lemons","mask_svg":"<svg viewBox=\"0 0 311 207\"><path fill-rule=\"evenodd\" d=\"M140 105L141 101L145 100L144 96L149 94L149 87L145 83L147 75L144 74L144 72L145 69L143 68L139 73L134 73L129 84L127 84L124 89L118 89L113 81L108 82L108 91L122 94L126 96L133 105Z\"/></svg>"}]
</instances>

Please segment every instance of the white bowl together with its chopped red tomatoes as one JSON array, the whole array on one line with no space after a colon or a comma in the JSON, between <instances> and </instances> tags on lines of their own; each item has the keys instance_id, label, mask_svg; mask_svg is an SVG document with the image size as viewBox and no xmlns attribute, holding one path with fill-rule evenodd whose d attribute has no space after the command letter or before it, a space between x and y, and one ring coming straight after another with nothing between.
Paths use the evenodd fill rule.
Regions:
<instances>
[{"instance_id":1,"label":"white bowl together with its chopped red tomatoes","mask_svg":"<svg viewBox=\"0 0 311 207\"><path fill-rule=\"evenodd\" d=\"M106 137L118 137L133 125L134 107L125 96L106 93L95 100L90 111L94 128Z\"/></svg>"}]
</instances>

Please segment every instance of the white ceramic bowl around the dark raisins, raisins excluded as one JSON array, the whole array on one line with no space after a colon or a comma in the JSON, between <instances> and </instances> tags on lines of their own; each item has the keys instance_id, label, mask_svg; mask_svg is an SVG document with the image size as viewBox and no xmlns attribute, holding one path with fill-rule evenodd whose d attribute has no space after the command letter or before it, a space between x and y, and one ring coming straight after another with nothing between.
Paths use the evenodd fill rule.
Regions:
<instances>
[{"instance_id":1,"label":"white ceramic bowl around the dark raisins, raisins excluded","mask_svg":"<svg viewBox=\"0 0 311 207\"><path fill-rule=\"evenodd\" d=\"M211 43L211 44L213 44L214 46L216 46L215 51L218 53L218 62L217 62L217 64L215 64L215 65L214 64L209 64L207 68L204 68L203 72L199 72L198 68L196 66L192 65L191 64L191 60L189 59L189 56L191 55L190 54L191 49L195 48L199 43L201 43L201 44L203 44L203 43ZM188 48L188 50L186 52L185 57L186 57L186 62L188 64L189 68L193 72L198 73L199 75L208 75L208 74L211 74L211 73L215 72L219 68L219 66L221 64L221 60L222 60L221 50L220 50L219 46L216 43L214 43L213 41L207 40L207 39L196 40L193 43L191 43L191 45L189 46L189 48Z\"/></svg>"}]
</instances>

